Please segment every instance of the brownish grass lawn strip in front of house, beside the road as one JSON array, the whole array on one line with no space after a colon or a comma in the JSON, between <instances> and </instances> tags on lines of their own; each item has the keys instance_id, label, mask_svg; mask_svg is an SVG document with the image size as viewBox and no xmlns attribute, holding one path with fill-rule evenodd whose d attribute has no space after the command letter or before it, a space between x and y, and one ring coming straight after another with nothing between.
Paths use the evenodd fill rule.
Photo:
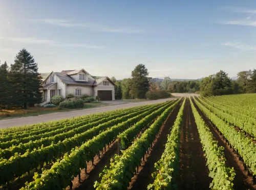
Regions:
<instances>
[{"instance_id":1,"label":"brownish grass lawn strip in front of house, beside the road","mask_svg":"<svg viewBox=\"0 0 256 190\"><path fill-rule=\"evenodd\" d=\"M83 108L80 109L88 109L88 108L95 108L95 107L102 107L108 106L109 104L101 103L101 102L92 102L92 103L85 103ZM63 112L63 111L73 111L77 109L68 109L68 108L45 108L45 107L28 107L28 109L15 109L15 110L3 110L0 109L0 120L6 120L9 118L15 117L28 117L28 116L36 116L48 113L55 113L55 112Z\"/></svg>"}]
</instances>

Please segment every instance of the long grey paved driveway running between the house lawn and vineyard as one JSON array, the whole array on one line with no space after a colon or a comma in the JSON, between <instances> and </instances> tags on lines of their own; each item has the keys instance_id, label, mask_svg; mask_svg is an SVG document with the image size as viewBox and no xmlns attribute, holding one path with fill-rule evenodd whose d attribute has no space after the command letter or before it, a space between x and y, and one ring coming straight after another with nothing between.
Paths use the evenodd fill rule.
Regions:
<instances>
[{"instance_id":1,"label":"long grey paved driveway running between the house lawn and vineyard","mask_svg":"<svg viewBox=\"0 0 256 190\"><path fill-rule=\"evenodd\" d=\"M161 103L161 102L165 102L167 100L173 100L173 99L174 98L168 98L168 99L161 99L161 100L152 100L152 101L145 101L145 102L128 102L128 103L126 103L126 101L121 101L123 102L122 104L120 104L121 102L119 101L111 101L113 102L113 104L114 102L116 102L116 104L105 106L105 107L91 108L91 109L81 109L81 110L74 110L74 111L67 111L67 112L56 112L56 113L49 113L49 114L38 115L38 116L19 117L19 118L12 118L9 120L1 120L0 128L3 129L8 127L17 127L17 126L31 125L31 124L37 124L42 122L62 120L65 118L111 111L111 110L116 110L121 108L130 108L130 107L141 106L146 104L156 104L156 103Z\"/></svg>"}]
</instances>

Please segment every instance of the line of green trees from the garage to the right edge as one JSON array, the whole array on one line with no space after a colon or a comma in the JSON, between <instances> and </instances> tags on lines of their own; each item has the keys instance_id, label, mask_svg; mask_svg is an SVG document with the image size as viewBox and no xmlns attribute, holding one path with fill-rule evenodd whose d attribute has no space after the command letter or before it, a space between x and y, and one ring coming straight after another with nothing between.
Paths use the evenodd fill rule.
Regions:
<instances>
[{"instance_id":1,"label":"line of green trees from the garage to the right edge","mask_svg":"<svg viewBox=\"0 0 256 190\"><path fill-rule=\"evenodd\" d=\"M242 71L237 80L231 80L223 70L201 80L172 81L148 78L145 65L140 64L132 72L132 78L116 80L115 99L147 98L149 92L167 91L170 93L200 93L201 96L219 96L224 94L256 93L256 69Z\"/></svg>"}]
</instances>

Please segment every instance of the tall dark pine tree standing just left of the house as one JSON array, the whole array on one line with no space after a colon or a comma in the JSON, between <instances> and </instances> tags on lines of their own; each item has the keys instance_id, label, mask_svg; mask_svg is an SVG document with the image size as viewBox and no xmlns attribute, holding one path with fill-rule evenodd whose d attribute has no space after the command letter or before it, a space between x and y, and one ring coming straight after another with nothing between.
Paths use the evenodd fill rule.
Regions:
<instances>
[{"instance_id":1,"label":"tall dark pine tree standing just left of the house","mask_svg":"<svg viewBox=\"0 0 256 190\"><path fill-rule=\"evenodd\" d=\"M41 102L41 79L37 63L26 49L20 50L16 55L14 64L11 65L10 79L15 90L13 101L17 107L27 109L27 106Z\"/></svg>"}]
</instances>

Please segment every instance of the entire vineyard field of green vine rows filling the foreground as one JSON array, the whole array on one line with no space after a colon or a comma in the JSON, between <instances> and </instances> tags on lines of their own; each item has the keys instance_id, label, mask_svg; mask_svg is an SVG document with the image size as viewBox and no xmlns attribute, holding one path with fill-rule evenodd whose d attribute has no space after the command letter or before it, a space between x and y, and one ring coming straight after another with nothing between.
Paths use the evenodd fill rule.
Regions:
<instances>
[{"instance_id":1,"label":"entire vineyard field of green vine rows filling the foreground","mask_svg":"<svg viewBox=\"0 0 256 190\"><path fill-rule=\"evenodd\" d=\"M3 189L255 189L256 94L0 130Z\"/></svg>"}]
</instances>

